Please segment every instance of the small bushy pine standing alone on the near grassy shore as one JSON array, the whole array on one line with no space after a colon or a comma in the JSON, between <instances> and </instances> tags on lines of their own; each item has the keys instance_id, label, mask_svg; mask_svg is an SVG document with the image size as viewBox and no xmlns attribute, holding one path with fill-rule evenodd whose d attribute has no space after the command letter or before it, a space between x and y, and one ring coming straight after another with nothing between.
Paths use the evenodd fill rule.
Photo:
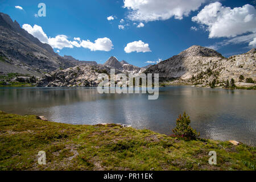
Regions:
<instances>
[{"instance_id":1,"label":"small bushy pine standing alone on the near grassy shore","mask_svg":"<svg viewBox=\"0 0 256 182\"><path fill-rule=\"evenodd\" d=\"M189 116L184 112L183 116L179 115L179 118L176 120L176 127L172 130L172 132L177 137L184 137L187 139L195 139L196 137L200 136L200 133L197 133L196 130L193 130L189 124L191 120Z\"/></svg>"}]
</instances>

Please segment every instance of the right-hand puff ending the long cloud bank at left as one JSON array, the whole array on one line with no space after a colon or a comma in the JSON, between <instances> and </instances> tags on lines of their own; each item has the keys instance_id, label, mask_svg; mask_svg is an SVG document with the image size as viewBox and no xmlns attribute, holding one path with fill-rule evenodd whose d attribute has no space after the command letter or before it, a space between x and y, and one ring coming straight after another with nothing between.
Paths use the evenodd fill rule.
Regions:
<instances>
[{"instance_id":1,"label":"right-hand puff ending the long cloud bank at left","mask_svg":"<svg viewBox=\"0 0 256 182\"><path fill-rule=\"evenodd\" d=\"M109 38L99 38L94 43L90 40L82 40L80 45L90 51L111 51L113 49L112 41Z\"/></svg>"}]
</instances>

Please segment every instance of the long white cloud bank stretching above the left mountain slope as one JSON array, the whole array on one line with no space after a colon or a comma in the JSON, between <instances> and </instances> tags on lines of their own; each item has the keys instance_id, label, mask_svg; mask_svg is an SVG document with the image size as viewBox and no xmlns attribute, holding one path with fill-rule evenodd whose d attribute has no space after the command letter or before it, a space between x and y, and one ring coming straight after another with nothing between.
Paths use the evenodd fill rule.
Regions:
<instances>
[{"instance_id":1,"label":"long white cloud bank stretching above the left mountain slope","mask_svg":"<svg viewBox=\"0 0 256 182\"><path fill-rule=\"evenodd\" d=\"M93 42L90 40L81 40L80 38L74 38L73 41L68 40L66 35L57 35L55 38L48 38L44 33L43 28L34 25L32 27L30 24L23 24L22 28L28 33L38 38L40 42L49 44L52 48L63 49L63 48L73 48L83 47L88 48L91 51L110 51L113 49L112 41L109 38L99 38Z\"/></svg>"}]
</instances>

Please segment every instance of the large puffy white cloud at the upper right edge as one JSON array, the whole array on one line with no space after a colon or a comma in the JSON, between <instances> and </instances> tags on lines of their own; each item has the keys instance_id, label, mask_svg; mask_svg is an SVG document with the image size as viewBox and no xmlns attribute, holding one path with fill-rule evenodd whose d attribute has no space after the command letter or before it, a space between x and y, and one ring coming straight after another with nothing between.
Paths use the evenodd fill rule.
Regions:
<instances>
[{"instance_id":1,"label":"large puffy white cloud at the upper right edge","mask_svg":"<svg viewBox=\"0 0 256 182\"><path fill-rule=\"evenodd\" d=\"M193 16L192 21L205 24L209 38L230 38L256 32L256 10L251 5L231 9L220 2L210 3L197 16Z\"/></svg>"}]
</instances>

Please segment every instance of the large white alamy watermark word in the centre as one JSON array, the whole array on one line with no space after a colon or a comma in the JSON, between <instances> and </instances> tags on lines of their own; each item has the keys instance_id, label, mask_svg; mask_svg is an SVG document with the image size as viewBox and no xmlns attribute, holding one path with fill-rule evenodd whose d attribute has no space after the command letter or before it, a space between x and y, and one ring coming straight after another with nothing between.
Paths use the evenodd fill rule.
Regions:
<instances>
[{"instance_id":1,"label":"large white alamy watermark word in the centre","mask_svg":"<svg viewBox=\"0 0 256 182\"><path fill-rule=\"evenodd\" d=\"M148 100L157 100L159 96L159 74L154 74L154 85L152 85L152 74L141 73L129 78L124 73L115 75L115 69L110 69L109 75L101 73L98 75L98 93L148 93ZM131 89L132 88L132 89ZM135 88L135 89L133 89Z\"/></svg>"}]
</instances>

